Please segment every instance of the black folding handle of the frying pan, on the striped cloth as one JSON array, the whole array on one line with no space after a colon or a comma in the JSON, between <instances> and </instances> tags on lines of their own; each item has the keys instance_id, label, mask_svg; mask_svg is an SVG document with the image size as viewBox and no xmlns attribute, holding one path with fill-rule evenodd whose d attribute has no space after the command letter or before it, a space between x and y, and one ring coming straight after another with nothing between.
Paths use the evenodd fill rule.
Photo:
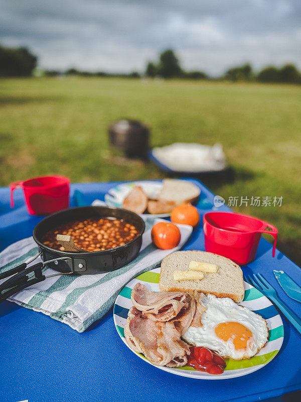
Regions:
<instances>
[{"instance_id":1,"label":"black folding handle of the frying pan, on the striped cloth","mask_svg":"<svg viewBox=\"0 0 301 402\"><path fill-rule=\"evenodd\" d=\"M0 303L20 290L45 280L46 276L42 273L43 266L43 262L38 262L30 267L27 267L27 264L23 263L0 274L0 280L13 275L0 284ZM31 273L33 273L33 275L27 276Z\"/></svg>"}]
</instances>

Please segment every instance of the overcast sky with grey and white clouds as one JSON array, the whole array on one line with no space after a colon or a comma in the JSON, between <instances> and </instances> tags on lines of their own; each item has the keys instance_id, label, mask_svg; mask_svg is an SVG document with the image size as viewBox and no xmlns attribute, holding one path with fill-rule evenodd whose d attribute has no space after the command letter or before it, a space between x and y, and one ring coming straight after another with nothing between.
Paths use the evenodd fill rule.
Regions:
<instances>
[{"instance_id":1,"label":"overcast sky with grey and white clouds","mask_svg":"<svg viewBox=\"0 0 301 402\"><path fill-rule=\"evenodd\" d=\"M173 48L186 69L301 68L300 0L0 0L0 43L48 69L143 71Z\"/></svg>"}]
</instances>

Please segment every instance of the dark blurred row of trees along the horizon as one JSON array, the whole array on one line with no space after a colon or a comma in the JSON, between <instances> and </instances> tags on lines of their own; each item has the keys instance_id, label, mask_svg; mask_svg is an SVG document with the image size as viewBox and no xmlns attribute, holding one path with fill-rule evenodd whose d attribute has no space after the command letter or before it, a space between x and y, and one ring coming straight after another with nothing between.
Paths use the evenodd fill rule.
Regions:
<instances>
[{"instance_id":1,"label":"dark blurred row of trees along the horizon","mask_svg":"<svg viewBox=\"0 0 301 402\"><path fill-rule=\"evenodd\" d=\"M29 77L37 67L38 58L27 48L7 48L0 46L0 77ZM229 81L259 81L259 82L283 82L301 83L301 73L293 64L286 64L281 68L268 66L259 73L253 71L250 64L233 67L228 69L225 74L218 78L212 78L203 71L186 71L181 65L178 57L172 49L167 49L159 56L158 61L149 61L145 72L139 74L133 71L129 74L112 74L104 71L89 72L75 68L66 71L45 70L46 76L57 75L79 75L79 76L98 76L98 77L126 77L139 78L146 76L149 78L181 78L181 79L210 79L210 80L229 80Z\"/></svg>"}]
</instances>

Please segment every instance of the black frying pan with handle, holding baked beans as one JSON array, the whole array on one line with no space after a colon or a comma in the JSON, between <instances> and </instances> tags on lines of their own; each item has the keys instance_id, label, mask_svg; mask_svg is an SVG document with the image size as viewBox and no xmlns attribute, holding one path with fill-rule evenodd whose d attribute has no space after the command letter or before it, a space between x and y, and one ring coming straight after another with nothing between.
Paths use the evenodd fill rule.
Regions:
<instances>
[{"instance_id":1,"label":"black frying pan with handle, holding baked beans","mask_svg":"<svg viewBox=\"0 0 301 402\"><path fill-rule=\"evenodd\" d=\"M123 246L109 250L94 252L72 252L52 249L42 243L41 239L49 230L55 229L70 221L85 220L87 218L115 218L135 226L138 236ZM132 261L139 253L142 244L142 234L145 229L144 221L134 212L121 208L109 207L79 207L57 212L37 224L33 232L33 238L39 246L42 260L30 267L23 263L15 268L0 274L0 280L9 279L0 284L0 303L8 297L31 286L42 282L50 276L75 274L87 275L114 271ZM38 257L38 256L37 256ZM37 258L36 257L36 258ZM32 261L30 261L32 262ZM48 268L59 271L57 274L45 276L42 269ZM13 275L13 276L12 276ZM28 276L30 275L30 276Z\"/></svg>"}]
</instances>

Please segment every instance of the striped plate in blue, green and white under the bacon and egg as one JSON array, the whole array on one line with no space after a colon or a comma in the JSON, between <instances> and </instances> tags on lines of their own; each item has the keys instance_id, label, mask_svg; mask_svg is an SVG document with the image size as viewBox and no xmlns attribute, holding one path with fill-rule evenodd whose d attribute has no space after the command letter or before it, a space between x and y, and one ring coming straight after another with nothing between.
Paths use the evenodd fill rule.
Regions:
<instances>
[{"instance_id":1,"label":"striped plate in blue, green and white under the bacon and egg","mask_svg":"<svg viewBox=\"0 0 301 402\"><path fill-rule=\"evenodd\" d=\"M159 291L159 276L160 268L152 269L151 271L142 273L136 278L127 283L126 286L120 291L116 298L114 305L114 323L120 338L127 343L124 338L124 326L127 318L127 313L132 306L130 300L130 293L132 288L137 282L143 283L148 289ZM185 377L201 378L201 379L224 379L240 377L259 370L261 367L269 363L279 352L283 342L283 324L276 308L271 304L269 299L265 297L255 287L244 282L245 297L241 306L247 307L249 310L260 314L267 322L269 329L269 340L256 356L251 359L232 360L226 359L226 369L223 374L212 375L203 371L197 371L191 367L184 366L179 368L159 367L161 370L168 371L173 374L183 375ZM128 346L129 347L129 346ZM132 351L133 352L133 351ZM133 352L135 353L135 352ZM140 358L144 359L147 363L149 361L140 353L135 353ZM152 364L152 363L149 363Z\"/></svg>"}]
</instances>

